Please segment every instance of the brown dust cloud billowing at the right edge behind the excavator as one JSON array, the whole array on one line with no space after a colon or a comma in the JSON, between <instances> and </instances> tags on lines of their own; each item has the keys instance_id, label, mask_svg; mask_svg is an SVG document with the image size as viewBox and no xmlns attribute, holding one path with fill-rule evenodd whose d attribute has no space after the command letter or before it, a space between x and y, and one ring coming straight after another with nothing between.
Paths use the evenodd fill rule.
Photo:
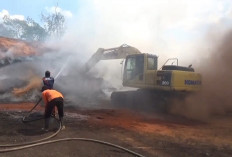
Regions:
<instances>
[{"instance_id":1,"label":"brown dust cloud billowing at the right edge behind the excavator","mask_svg":"<svg viewBox=\"0 0 232 157\"><path fill-rule=\"evenodd\" d=\"M178 100L170 112L198 120L209 120L215 114L232 111L232 30L220 37L210 33L210 52L199 61L198 70L202 74L202 90ZM205 54L199 53L200 56Z\"/></svg>"}]
</instances>

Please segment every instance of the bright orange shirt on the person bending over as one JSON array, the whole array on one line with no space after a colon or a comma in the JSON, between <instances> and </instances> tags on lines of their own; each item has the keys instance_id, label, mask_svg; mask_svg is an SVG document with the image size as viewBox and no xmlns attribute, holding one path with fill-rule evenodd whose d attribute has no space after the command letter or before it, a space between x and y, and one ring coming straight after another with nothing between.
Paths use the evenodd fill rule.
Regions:
<instances>
[{"instance_id":1,"label":"bright orange shirt on the person bending over","mask_svg":"<svg viewBox=\"0 0 232 157\"><path fill-rule=\"evenodd\" d=\"M47 89L43 91L42 96L45 104L49 103L55 98L59 98L59 97L64 98L64 96L60 92L53 89Z\"/></svg>"}]
</instances>

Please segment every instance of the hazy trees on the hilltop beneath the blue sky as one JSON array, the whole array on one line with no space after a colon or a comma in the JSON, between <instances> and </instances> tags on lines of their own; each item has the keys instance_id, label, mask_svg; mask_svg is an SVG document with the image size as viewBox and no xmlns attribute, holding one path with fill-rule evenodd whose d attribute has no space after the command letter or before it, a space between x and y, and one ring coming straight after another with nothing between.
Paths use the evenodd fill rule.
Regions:
<instances>
[{"instance_id":1,"label":"hazy trees on the hilltop beneath the blue sky","mask_svg":"<svg viewBox=\"0 0 232 157\"><path fill-rule=\"evenodd\" d=\"M30 17L19 20L6 15L0 23L0 36L26 41L45 41L51 37L60 38L65 33L65 17L61 13L42 13L41 21L43 26Z\"/></svg>"}]
</instances>

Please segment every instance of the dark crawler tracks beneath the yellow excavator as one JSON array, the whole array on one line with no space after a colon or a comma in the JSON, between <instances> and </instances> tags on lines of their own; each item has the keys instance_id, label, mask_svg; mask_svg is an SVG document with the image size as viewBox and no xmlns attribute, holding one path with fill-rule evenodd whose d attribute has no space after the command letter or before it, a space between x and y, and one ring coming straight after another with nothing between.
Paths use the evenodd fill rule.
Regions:
<instances>
[{"instance_id":1,"label":"dark crawler tracks beneath the yellow excavator","mask_svg":"<svg viewBox=\"0 0 232 157\"><path fill-rule=\"evenodd\" d=\"M138 89L136 91L118 91L111 94L111 103L115 107L130 108L139 111L168 112L170 105L184 101L188 94Z\"/></svg>"}]
</instances>

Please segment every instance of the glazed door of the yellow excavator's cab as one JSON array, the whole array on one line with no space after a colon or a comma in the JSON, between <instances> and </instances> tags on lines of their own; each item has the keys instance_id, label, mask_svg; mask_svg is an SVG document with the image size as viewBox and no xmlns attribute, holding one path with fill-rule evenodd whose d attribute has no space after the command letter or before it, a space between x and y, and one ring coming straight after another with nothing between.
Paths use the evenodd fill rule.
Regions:
<instances>
[{"instance_id":1,"label":"glazed door of the yellow excavator's cab","mask_svg":"<svg viewBox=\"0 0 232 157\"><path fill-rule=\"evenodd\" d=\"M123 85L143 84L144 82L144 54L129 55L126 58Z\"/></svg>"}]
</instances>

